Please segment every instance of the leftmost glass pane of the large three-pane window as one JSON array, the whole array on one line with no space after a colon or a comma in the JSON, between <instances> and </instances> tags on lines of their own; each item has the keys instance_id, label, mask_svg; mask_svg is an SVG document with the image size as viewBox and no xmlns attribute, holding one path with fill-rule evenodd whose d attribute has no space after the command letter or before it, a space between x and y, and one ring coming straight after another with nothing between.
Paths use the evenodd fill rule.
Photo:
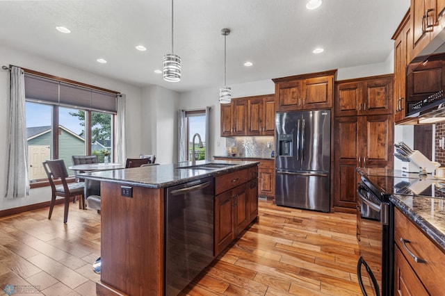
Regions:
<instances>
[{"instance_id":1,"label":"leftmost glass pane of the large three-pane window","mask_svg":"<svg viewBox=\"0 0 445 296\"><path fill-rule=\"evenodd\" d=\"M46 179L42 163L51 159L52 106L26 101L26 138L28 142L29 180Z\"/></svg>"}]
</instances>

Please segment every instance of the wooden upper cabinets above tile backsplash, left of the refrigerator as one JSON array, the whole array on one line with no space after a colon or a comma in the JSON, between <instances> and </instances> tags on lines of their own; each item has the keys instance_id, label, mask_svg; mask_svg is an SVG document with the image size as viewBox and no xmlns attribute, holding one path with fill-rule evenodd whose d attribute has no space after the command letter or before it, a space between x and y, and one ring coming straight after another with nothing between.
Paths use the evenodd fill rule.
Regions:
<instances>
[{"instance_id":1,"label":"wooden upper cabinets above tile backsplash, left of the refrigerator","mask_svg":"<svg viewBox=\"0 0 445 296\"><path fill-rule=\"evenodd\" d=\"M221 136L273 135L275 94L232 99L221 105Z\"/></svg>"}]
</instances>

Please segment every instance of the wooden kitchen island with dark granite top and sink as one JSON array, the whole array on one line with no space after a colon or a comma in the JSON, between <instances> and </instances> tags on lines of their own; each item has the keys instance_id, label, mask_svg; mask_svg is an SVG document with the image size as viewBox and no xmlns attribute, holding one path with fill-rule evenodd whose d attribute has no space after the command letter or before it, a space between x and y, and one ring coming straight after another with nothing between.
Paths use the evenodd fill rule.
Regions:
<instances>
[{"instance_id":1,"label":"wooden kitchen island with dark granite top and sink","mask_svg":"<svg viewBox=\"0 0 445 296\"><path fill-rule=\"evenodd\" d=\"M202 219L198 217L193 227L208 228L202 221L206 217L211 220L211 259L222 252L241 229L257 219L256 162L198 161L193 167L191 163L154 165L90 172L82 177L101 182L102 272L96 285L97 295L177 293L165 284L165 278L175 272L169 271L166 265L169 188L200 180L214 181L212 211L204 213ZM187 250L188 255L199 254L195 247ZM198 257L200 261L202 257Z\"/></svg>"}]
</instances>

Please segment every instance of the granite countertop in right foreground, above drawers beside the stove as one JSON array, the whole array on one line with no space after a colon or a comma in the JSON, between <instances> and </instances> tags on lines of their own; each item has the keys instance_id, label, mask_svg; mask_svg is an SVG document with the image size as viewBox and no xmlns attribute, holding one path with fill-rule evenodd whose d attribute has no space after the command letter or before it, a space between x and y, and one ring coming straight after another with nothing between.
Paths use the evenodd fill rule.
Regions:
<instances>
[{"instance_id":1,"label":"granite countertop in right foreground, above drawers beside the stove","mask_svg":"<svg viewBox=\"0 0 445 296\"><path fill-rule=\"evenodd\" d=\"M389 200L445 249L445 199L392 195Z\"/></svg>"}]
</instances>

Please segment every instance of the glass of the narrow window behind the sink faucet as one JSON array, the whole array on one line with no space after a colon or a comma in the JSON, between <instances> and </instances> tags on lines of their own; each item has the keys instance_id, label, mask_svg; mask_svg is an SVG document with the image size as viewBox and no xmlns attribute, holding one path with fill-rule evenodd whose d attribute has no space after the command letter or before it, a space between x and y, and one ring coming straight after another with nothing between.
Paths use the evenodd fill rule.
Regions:
<instances>
[{"instance_id":1,"label":"glass of the narrow window behind the sink faucet","mask_svg":"<svg viewBox=\"0 0 445 296\"><path fill-rule=\"evenodd\" d=\"M195 145L195 156L197 161L203 161L206 157L205 147L206 147L206 115L204 113L186 115L187 117L187 129L188 129L188 159L192 160L193 145ZM199 138L195 138L195 143L192 142L193 135L198 133L201 136L203 147L199 147Z\"/></svg>"}]
</instances>

